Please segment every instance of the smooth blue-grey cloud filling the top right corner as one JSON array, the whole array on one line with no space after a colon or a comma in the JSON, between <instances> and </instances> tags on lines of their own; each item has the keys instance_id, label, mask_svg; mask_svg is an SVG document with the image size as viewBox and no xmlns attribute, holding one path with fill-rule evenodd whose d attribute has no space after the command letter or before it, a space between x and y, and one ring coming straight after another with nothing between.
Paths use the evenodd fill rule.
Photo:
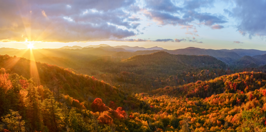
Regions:
<instances>
[{"instance_id":1,"label":"smooth blue-grey cloud filling the top right corner","mask_svg":"<svg viewBox=\"0 0 266 132\"><path fill-rule=\"evenodd\" d=\"M266 0L233 0L236 7L225 9L229 16L239 21L237 28L242 35L266 36Z\"/></svg>"}]
</instances>

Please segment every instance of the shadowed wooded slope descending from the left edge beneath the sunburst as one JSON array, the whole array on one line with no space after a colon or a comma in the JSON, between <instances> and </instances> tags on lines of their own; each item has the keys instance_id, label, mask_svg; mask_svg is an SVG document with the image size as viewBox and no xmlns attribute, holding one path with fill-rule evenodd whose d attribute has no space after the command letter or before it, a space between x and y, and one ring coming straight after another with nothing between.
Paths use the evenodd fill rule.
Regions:
<instances>
[{"instance_id":1,"label":"shadowed wooded slope descending from the left edge beneath the sunburst","mask_svg":"<svg viewBox=\"0 0 266 132\"><path fill-rule=\"evenodd\" d=\"M17 73L26 78L30 78L31 61L24 58L0 56L0 67L7 70L7 73ZM47 64L36 63L36 69L39 74L38 79L32 78L36 85L44 85L57 95L59 93L68 94L80 101L93 100L96 97L102 98L103 101L120 101L123 94L119 90L96 78L76 74L70 69L52 66Z\"/></svg>"}]
</instances>

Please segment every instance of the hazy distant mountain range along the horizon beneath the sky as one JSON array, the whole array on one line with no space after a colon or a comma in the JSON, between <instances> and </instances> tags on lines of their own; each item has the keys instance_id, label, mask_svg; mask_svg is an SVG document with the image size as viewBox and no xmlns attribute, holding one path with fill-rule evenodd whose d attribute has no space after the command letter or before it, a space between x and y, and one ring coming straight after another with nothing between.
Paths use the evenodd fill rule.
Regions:
<instances>
[{"instance_id":1,"label":"hazy distant mountain range along the horizon beneath the sky","mask_svg":"<svg viewBox=\"0 0 266 132\"><path fill-rule=\"evenodd\" d=\"M38 49L32 50L35 60L44 62L51 62L47 60L49 57L57 58L90 58L93 60L100 56L112 56L120 59L127 59L136 55L147 55L159 51L164 51L174 55L207 55L221 60L225 64L232 67L258 67L266 65L266 51L260 50L213 50L201 49L195 47L188 47L185 49L166 50L160 47L143 48L143 47L129 47L129 46L114 46L111 47L106 44L90 45L84 48L79 46L65 46L59 49ZM18 50L12 48L0 48L0 55L8 54L10 56L24 57L30 59L29 50ZM54 58L53 58L54 60ZM57 63L56 63L57 64ZM63 64L63 63L60 63ZM65 66L65 65L64 65Z\"/></svg>"}]
</instances>

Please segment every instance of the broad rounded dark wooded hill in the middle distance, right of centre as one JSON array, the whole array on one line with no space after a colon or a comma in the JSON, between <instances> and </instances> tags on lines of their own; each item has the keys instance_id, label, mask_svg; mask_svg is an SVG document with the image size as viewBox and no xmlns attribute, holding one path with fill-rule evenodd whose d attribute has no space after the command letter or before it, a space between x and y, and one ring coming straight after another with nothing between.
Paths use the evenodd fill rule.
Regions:
<instances>
[{"instance_id":1,"label":"broad rounded dark wooded hill in the middle distance, right of centre","mask_svg":"<svg viewBox=\"0 0 266 132\"><path fill-rule=\"evenodd\" d=\"M143 72L161 73L170 73L188 68L226 68L222 61L211 56L172 55L167 52L134 56L122 63L143 69Z\"/></svg>"}]
</instances>

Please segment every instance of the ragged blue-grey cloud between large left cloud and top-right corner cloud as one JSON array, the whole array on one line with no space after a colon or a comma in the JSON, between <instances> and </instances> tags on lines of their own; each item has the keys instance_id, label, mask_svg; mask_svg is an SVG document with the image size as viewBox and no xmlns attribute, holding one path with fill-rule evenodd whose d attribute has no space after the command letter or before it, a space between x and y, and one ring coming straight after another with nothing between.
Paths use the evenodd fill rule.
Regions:
<instances>
[{"instance_id":1,"label":"ragged blue-grey cloud between large left cloud and top-right corner cloud","mask_svg":"<svg viewBox=\"0 0 266 132\"><path fill-rule=\"evenodd\" d=\"M226 17L221 14L198 11L201 7L212 7L214 1L184 0L183 4L176 6L171 0L146 0L144 13L160 25L189 25L195 20L206 26L226 23Z\"/></svg>"}]
</instances>

